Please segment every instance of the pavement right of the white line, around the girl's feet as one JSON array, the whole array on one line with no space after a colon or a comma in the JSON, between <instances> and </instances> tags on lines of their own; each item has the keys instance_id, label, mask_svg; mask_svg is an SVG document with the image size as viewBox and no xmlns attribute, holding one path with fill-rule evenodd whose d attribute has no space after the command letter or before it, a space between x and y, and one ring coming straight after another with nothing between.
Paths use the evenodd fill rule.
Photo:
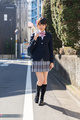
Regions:
<instances>
[{"instance_id":1,"label":"pavement right of the white line, around the girl's feet","mask_svg":"<svg viewBox=\"0 0 80 120\"><path fill-rule=\"evenodd\" d=\"M55 77L53 71L48 74L48 86L44 106L38 106L34 102L37 78L32 73L34 120L80 120L80 103L56 79L58 74L56 73Z\"/></svg>"}]
</instances>

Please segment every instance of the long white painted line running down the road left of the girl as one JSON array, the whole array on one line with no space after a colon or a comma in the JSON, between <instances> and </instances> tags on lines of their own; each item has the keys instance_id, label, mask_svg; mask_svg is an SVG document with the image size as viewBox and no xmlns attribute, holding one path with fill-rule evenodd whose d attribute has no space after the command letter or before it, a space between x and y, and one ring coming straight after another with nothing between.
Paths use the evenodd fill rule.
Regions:
<instances>
[{"instance_id":1,"label":"long white painted line running down the road left of the girl","mask_svg":"<svg viewBox=\"0 0 80 120\"><path fill-rule=\"evenodd\" d=\"M32 104L32 85L31 85L31 66L28 65L26 76L26 89L24 99L23 120L33 119L33 104Z\"/></svg>"}]
</instances>

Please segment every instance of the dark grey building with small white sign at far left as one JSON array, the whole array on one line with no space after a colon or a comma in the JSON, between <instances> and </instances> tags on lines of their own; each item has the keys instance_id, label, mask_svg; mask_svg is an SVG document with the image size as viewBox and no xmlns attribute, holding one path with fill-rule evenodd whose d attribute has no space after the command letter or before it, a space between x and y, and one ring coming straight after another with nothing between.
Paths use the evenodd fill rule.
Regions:
<instances>
[{"instance_id":1,"label":"dark grey building with small white sign at far left","mask_svg":"<svg viewBox=\"0 0 80 120\"><path fill-rule=\"evenodd\" d=\"M0 54L14 54L16 6L0 5Z\"/></svg>"}]
</instances>

